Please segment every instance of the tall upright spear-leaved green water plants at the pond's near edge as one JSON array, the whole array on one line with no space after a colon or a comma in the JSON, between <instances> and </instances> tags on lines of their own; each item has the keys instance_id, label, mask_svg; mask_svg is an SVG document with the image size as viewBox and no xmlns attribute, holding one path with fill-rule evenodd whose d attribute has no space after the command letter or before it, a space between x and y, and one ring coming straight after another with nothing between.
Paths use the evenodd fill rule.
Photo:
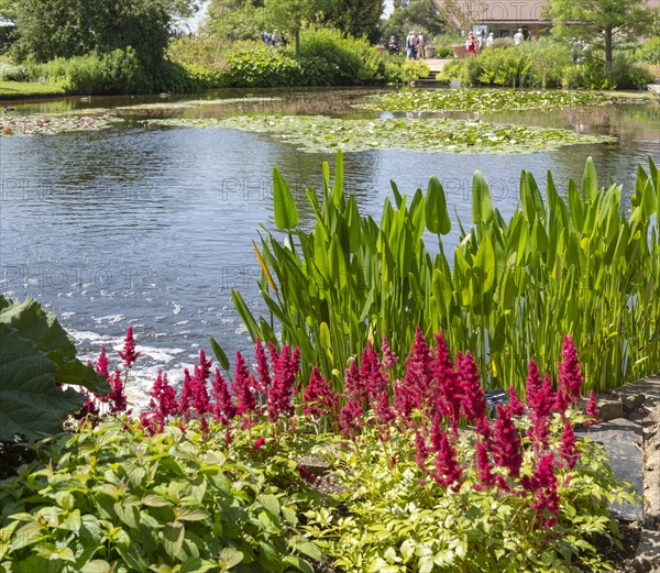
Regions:
<instances>
[{"instance_id":1,"label":"tall upright spear-leaved green water plants at the pond's near edge","mask_svg":"<svg viewBox=\"0 0 660 573\"><path fill-rule=\"evenodd\" d=\"M233 293L253 339L277 342L277 320L283 343L299 346L304 363L318 364L337 388L365 340L385 333L400 355L415 324L427 333L442 329L450 344L470 350L488 387L519 390L530 357L554 373L563 332L581 349L585 390L658 370L660 235L653 216L660 179L651 161L648 174L639 167L629 216L620 214L622 187L598 188L591 159L582 190L569 181L568 196L558 194L548 173L546 200L522 172L522 207L508 221L477 172L473 224L459 221L453 261L441 234L439 253L427 251L428 198L420 189L408 198L393 184L395 205L387 199L376 223L344 197L341 155L337 165L332 187L326 166L321 197L307 192L314 230L297 228L290 247L273 233L262 241L261 256L277 283L273 291L265 277L260 280L271 316L255 320Z\"/></svg>"}]
</instances>

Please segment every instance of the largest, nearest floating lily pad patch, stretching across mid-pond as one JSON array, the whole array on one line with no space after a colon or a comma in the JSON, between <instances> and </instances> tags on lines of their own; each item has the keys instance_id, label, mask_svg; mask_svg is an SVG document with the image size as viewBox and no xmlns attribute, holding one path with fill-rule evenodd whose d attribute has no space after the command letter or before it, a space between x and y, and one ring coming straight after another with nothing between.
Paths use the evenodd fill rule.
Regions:
<instances>
[{"instance_id":1,"label":"largest, nearest floating lily pad patch, stretching across mid-pond","mask_svg":"<svg viewBox=\"0 0 660 573\"><path fill-rule=\"evenodd\" d=\"M530 153L612 137L568 130L450 119L342 120L322 115L234 115L156 120L160 125L229 128L272 133L307 152L404 150L427 153Z\"/></svg>"}]
</instances>

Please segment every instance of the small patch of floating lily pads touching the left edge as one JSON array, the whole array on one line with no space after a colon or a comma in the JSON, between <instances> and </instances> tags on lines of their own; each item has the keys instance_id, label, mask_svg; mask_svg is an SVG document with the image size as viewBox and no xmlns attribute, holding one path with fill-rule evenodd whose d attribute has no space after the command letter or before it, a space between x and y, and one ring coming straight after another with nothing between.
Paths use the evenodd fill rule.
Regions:
<instances>
[{"instance_id":1,"label":"small patch of floating lily pads touching the left edge","mask_svg":"<svg viewBox=\"0 0 660 573\"><path fill-rule=\"evenodd\" d=\"M55 135L75 131L99 131L122 121L113 115L3 115L0 118L0 135Z\"/></svg>"}]
</instances>

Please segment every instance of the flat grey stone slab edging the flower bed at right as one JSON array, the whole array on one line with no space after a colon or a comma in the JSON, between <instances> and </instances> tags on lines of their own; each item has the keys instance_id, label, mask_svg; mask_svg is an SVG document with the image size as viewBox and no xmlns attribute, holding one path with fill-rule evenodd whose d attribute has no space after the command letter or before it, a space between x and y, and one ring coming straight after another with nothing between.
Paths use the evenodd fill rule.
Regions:
<instances>
[{"instance_id":1,"label":"flat grey stone slab edging the flower bed at right","mask_svg":"<svg viewBox=\"0 0 660 573\"><path fill-rule=\"evenodd\" d=\"M623 409L623 405L619 403ZM575 432L580 437L588 436L593 441L602 443L612 464L614 475L619 481L630 482L632 488L642 495L641 427L624 418L597 423L588 430L581 428ZM612 504L613 516L624 521L641 521L642 506L639 499L630 504Z\"/></svg>"}]
</instances>

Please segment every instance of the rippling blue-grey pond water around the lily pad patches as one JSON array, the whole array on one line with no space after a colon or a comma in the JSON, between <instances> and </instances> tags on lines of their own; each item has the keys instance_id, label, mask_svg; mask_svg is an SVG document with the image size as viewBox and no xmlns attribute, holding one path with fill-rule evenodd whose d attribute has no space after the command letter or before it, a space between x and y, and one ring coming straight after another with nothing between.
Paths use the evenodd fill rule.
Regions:
<instances>
[{"instance_id":1,"label":"rippling blue-grey pond water around the lily pad patches","mask_svg":"<svg viewBox=\"0 0 660 573\"><path fill-rule=\"evenodd\" d=\"M308 153L267 133L162 128L147 118L248 112L406 117L351 107L372 92L233 90L166 101L69 98L11 104L15 109L6 113L15 115L141 107L124 111L125 121L102 131L0 139L0 290L18 299L38 298L74 334L85 357L96 356L102 344L118 348L132 324L142 351L136 375L148 386L157 367L180 379L182 366L191 364L200 348L209 349L208 334L227 351L249 350L230 294L240 289L255 313L265 313L255 285L258 265L252 241L258 241L260 223L274 227L272 169L280 169L299 199L305 224L311 219L305 189L321 187L321 164L327 161L332 169L334 154ZM184 99L197 101L177 108ZM465 112L451 117L474 119ZM391 179L411 192L426 189L436 175L450 211L469 221L475 169L484 173L506 217L518 201L521 169L530 170L541 187L551 169L563 190L569 177L582 177L591 155L602 184L612 177L629 195L637 164L646 163L648 155L660 162L658 102L482 113L480 119L566 128L615 141L516 155L346 153L348 190L363 212L378 218L391 196ZM458 232L448 243L457 239Z\"/></svg>"}]
</instances>

